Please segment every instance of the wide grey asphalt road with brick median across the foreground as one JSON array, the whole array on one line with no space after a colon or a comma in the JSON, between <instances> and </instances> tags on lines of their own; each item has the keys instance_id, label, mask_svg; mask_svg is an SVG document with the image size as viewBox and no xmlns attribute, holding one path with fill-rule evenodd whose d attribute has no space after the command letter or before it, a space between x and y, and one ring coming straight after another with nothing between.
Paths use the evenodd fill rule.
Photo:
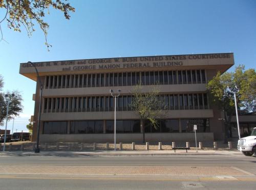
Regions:
<instances>
[{"instance_id":1,"label":"wide grey asphalt road with brick median across the foreground","mask_svg":"<svg viewBox=\"0 0 256 190\"><path fill-rule=\"evenodd\" d=\"M0 189L255 189L256 157L244 155L184 155L184 156L131 156L131 157L56 157L56 156L2 156L0 167ZM23 173L15 173L23 168ZM88 174L27 173L26 168L91 168ZM112 167L113 170L127 168L127 174L94 175L95 168ZM170 168L169 174L132 174L132 168ZM175 168L184 168L176 175ZM202 173L189 174L193 168L201 167ZM230 169L230 175L204 175L205 170ZM8 168L14 168L8 171ZM141 168L140 168L141 169ZM33 170L32 170L33 171ZM222 171L216 171L222 172ZM225 172L225 171L224 171ZM228 171L226 171L228 172ZM234 172L239 174L234 175Z\"/></svg>"}]
</instances>

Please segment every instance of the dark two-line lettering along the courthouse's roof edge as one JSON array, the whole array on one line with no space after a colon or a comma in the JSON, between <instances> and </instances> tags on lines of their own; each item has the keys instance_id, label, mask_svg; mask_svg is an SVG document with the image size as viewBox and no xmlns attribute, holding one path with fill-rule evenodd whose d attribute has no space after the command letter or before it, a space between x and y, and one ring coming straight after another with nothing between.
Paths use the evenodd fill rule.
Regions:
<instances>
[{"instance_id":1,"label":"dark two-line lettering along the courthouse's roof edge","mask_svg":"<svg viewBox=\"0 0 256 190\"><path fill-rule=\"evenodd\" d=\"M59 67L60 71L81 71L97 69L126 69L126 68L148 68L148 67L174 67L185 66L184 63L199 60L230 59L232 53L211 53L197 55L170 55L170 56L148 56L148 57L126 57L86 59L72 61L54 61L34 63L40 67ZM187 65L186 65L187 66ZM30 64L22 64L23 68L32 67Z\"/></svg>"}]
</instances>

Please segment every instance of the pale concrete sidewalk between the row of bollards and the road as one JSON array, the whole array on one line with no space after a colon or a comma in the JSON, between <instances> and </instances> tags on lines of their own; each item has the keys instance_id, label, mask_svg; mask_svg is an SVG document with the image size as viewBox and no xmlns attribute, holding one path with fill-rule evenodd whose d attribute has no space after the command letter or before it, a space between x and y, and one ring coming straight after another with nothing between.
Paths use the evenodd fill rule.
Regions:
<instances>
[{"instance_id":1,"label":"pale concrete sidewalk between the row of bollards and the road","mask_svg":"<svg viewBox=\"0 0 256 190\"><path fill-rule=\"evenodd\" d=\"M144 151L41 151L40 153L13 151L0 152L0 156L67 156L67 157L83 157L83 156L175 156L175 155L243 155L236 149L232 150L144 150Z\"/></svg>"}]
</instances>

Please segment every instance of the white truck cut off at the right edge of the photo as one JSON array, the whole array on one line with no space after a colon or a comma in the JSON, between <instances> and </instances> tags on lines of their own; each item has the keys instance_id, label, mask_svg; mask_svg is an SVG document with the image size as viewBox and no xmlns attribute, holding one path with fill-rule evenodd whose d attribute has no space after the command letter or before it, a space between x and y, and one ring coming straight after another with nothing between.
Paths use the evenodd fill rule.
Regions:
<instances>
[{"instance_id":1,"label":"white truck cut off at the right edge of the photo","mask_svg":"<svg viewBox=\"0 0 256 190\"><path fill-rule=\"evenodd\" d=\"M256 127L251 131L251 135L238 140L238 150L246 156L256 154Z\"/></svg>"}]
</instances>

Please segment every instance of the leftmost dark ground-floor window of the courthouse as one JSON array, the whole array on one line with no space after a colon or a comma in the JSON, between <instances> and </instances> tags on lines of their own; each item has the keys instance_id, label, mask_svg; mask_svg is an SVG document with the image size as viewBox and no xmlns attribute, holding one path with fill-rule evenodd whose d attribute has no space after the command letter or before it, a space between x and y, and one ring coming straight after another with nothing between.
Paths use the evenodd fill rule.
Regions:
<instances>
[{"instance_id":1,"label":"leftmost dark ground-floor window of the courthouse","mask_svg":"<svg viewBox=\"0 0 256 190\"><path fill-rule=\"evenodd\" d=\"M67 121L44 122L44 134L67 134Z\"/></svg>"}]
</instances>

